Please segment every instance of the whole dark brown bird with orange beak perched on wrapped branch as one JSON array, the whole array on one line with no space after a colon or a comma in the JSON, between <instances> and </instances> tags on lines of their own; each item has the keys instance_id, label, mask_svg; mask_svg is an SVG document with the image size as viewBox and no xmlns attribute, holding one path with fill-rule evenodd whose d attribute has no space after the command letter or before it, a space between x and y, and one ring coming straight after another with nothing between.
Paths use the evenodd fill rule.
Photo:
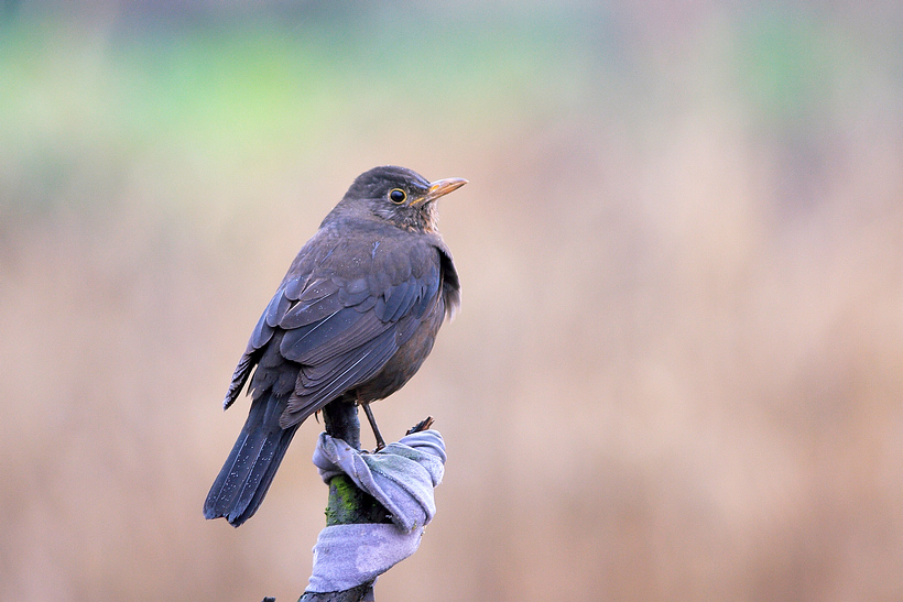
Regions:
<instances>
[{"instance_id":1,"label":"whole dark brown bird with orange beak perched on wrapped branch","mask_svg":"<svg viewBox=\"0 0 903 602\"><path fill-rule=\"evenodd\" d=\"M302 247L263 310L232 374L228 409L244 385L251 408L204 503L235 527L260 504L295 431L334 402L363 407L417 372L460 305L436 200L467 184L429 182L384 165L358 176ZM252 375L253 373L253 375Z\"/></svg>"}]
</instances>

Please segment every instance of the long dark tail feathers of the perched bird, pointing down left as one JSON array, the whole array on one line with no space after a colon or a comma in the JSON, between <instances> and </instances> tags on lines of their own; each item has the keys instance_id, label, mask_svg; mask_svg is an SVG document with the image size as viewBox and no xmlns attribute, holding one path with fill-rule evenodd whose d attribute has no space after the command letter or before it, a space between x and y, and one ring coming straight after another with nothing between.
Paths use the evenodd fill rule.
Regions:
<instances>
[{"instance_id":1,"label":"long dark tail feathers of the perched bird, pointing down left","mask_svg":"<svg viewBox=\"0 0 903 602\"><path fill-rule=\"evenodd\" d=\"M232 452L204 503L206 518L225 517L233 527L253 516L300 424L280 428L287 405L271 392L255 398Z\"/></svg>"}]
</instances>

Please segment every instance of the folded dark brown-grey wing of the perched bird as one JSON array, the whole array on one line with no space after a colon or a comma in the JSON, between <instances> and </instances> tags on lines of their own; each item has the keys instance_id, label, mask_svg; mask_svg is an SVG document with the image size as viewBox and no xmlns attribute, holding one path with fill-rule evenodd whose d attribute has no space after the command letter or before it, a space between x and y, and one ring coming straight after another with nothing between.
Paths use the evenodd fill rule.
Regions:
<instances>
[{"instance_id":1,"label":"folded dark brown-grey wing of the perched bird","mask_svg":"<svg viewBox=\"0 0 903 602\"><path fill-rule=\"evenodd\" d=\"M271 340L281 358L301 364L283 428L373 377L438 303L440 254L428 241L345 240L314 261L296 260L251 335L227 406Z\"/></svg>"}]
</instances>

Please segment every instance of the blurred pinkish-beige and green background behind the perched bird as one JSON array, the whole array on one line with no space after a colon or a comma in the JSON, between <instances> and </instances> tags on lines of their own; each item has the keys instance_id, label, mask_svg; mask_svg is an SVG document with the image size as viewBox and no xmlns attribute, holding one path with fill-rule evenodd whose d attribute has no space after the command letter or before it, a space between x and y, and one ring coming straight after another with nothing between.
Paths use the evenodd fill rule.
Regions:
<instances>
[{"instance_id":1,"label":"blurred pinkish-beige and green background behind the perched bird","mask_svg":"<svg viewBox=\"0 0 903 602\"><path fill-rule=\"evenodd\" d=\"M297 599L322 427L236 530L220 403L388 163L470 184L378 600L903 599L899 2L0 7L0 599Z\"/></svg>"}]
</instances>

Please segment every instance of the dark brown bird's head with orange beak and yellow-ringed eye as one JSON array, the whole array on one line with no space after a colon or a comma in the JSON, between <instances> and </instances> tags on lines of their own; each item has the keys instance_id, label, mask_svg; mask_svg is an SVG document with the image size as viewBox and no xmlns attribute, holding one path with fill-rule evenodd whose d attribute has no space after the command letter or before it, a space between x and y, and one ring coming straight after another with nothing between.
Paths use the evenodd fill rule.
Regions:
<instances>
[{"instance_id":1,"label":"dark brown bird's head with orange beak and yellow-ringed eye","mask_svg":"<svg viewBox=\"0 0 903 602\"><path fill-rule=\"evenodd\" d=\"M399 228L435 231L436 199L465 184L467 180L460 177L428 182L405 167L385 165L359 175L339 205L367 210Z\"/></svg>"}]
</instances>

